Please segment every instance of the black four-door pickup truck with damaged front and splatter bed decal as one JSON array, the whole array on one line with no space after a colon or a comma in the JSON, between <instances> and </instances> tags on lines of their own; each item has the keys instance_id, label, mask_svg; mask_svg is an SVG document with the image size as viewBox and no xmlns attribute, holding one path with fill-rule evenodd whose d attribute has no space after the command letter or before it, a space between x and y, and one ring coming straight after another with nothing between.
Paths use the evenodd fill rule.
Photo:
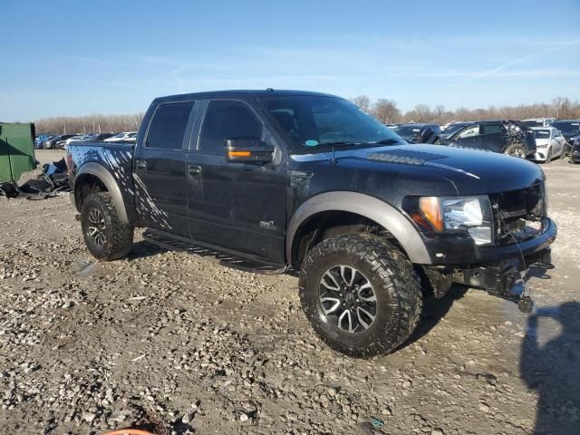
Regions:
<instances>
[{"instance_id":1,"label":"black four-door pickup truck with damaged front and splatter bed decal","mask_svg":"<svg viewBox=\"0 0 580 435\"><path fill-rule=\"evenodd\" d=\"M527 301L522 272L551 266L556 224L536 164L408 144L332 95L159 98L135 145L75 143L67 162L93 256L127 255L146 227L164 247L299 272L315 332L352 356L403 343L425 290L459 283Z\"/></svg>"}]
</instances>

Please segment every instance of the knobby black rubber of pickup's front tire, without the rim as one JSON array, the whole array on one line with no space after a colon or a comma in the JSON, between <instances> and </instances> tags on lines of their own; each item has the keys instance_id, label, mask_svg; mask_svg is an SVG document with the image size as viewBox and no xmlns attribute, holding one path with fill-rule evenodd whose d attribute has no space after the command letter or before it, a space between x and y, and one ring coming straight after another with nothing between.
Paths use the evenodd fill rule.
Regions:
<instances>
[{"instance_id":1,"label":"knobby black rubber of pickup's front tire, without the rim","mask_svg":"<svg viewBox=\"0 0 580 435\"><path fill-rule=\"evenodd\" d=\"M333 266L354 267L366 276L376 296L376 317L368 329L348 333L324 314L321 279ZM332 237L304 258L299 280L304 314L320 339L335 351L357 358L391 353L419 323L420 277L411 261L388 240L368 234Z\"/></svg>"}]
</instances>

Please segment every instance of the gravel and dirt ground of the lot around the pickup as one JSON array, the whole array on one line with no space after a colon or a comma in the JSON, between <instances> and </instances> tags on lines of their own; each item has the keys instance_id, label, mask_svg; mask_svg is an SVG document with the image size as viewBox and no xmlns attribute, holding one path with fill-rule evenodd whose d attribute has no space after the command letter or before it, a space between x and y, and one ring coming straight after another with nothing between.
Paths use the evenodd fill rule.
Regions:
<instances>
[{"instance_id":1,"label":"gravel and dirt ground of the lot around the pickup","mask_svg":"<svg viewBox=\"0 0 580 435\"><path fill-rule=\"evenodd\" d=\"M559 235L556 269L528 283L535 314L458 288L372 361L315 338L294 276L164 251L140 233L129 258L99 263L67 195L0 198L0 428L580 433L580 165L543 168Z\"/></svg>"}]
</instances>

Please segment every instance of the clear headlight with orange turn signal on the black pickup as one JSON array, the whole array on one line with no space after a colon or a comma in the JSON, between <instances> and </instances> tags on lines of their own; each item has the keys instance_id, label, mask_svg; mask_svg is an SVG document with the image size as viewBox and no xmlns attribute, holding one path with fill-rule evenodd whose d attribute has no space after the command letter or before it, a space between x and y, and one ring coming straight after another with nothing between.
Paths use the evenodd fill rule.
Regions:
<instances>
[{"instance_id":1,"label":"clear headlight with orange turn signal on the black pickup","mask_svg":"<svg viewBox=\"0 0 580 435\"><path fill-rule=\"evenodd\" d=\"M493 218L487 196L419 198L419 215L411 214L417 223L440 234L463 234L477 245L493 241Z\"/></svg>"}]
</instances>

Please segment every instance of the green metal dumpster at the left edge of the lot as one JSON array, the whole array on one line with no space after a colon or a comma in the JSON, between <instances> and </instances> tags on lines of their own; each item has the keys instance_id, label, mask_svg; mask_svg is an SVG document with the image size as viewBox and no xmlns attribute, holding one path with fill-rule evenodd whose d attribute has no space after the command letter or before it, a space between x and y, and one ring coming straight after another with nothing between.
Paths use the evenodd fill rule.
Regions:
<instances>
[{"instance_id":1,"label":"green metal dumpster at the left edge of the lot","mask_svg":"<svg viewBox=\"0 0 580 435\"><path fill-rule=\"evenodd\" d=\"M0 122L0 183L18 181L34 168L34 124Z\"/></svg>"}]
</instances>

